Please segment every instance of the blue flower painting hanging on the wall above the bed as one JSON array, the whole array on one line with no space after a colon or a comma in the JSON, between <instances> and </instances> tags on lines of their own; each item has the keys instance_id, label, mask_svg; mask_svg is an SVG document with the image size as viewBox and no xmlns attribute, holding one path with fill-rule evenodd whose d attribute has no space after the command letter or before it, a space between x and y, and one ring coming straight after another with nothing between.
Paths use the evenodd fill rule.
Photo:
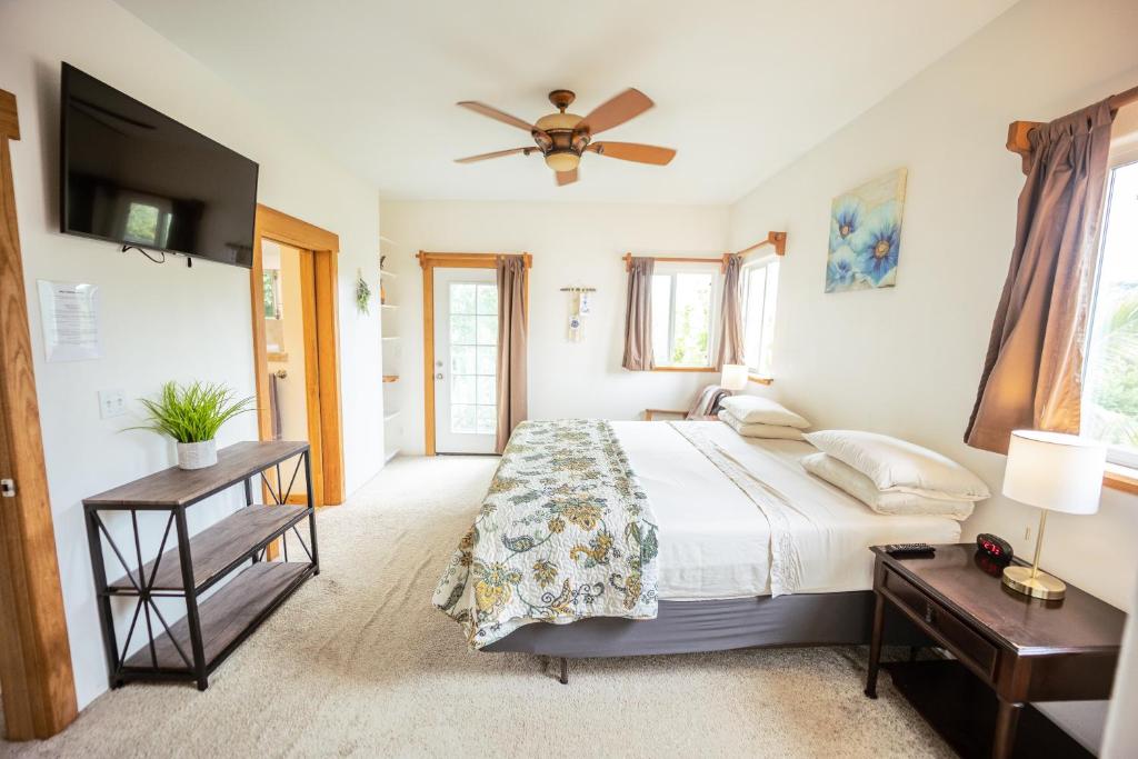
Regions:
<instances>
[{"instance_id":1,"label":"blue flower painting hanging on the wall above the bed","mask_svg":"<svg viewBox=\"0 0 1138 759\"><path fill-rule=\"evenodd\" d=\"M897 284L908 171L898 168L834 198L826 292Z\"/></svg>"}]
</instances>

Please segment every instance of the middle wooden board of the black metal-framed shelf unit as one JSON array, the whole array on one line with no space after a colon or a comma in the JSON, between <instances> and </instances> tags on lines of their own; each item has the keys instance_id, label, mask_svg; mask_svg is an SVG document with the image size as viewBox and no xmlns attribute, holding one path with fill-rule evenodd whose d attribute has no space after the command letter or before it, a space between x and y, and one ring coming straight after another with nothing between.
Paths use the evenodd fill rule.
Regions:
<instances>
[{"instance_id":1,"label":"middle wooden board of the black metal-framed shelf unit","mask_svg":"<svg viewBox=\"0 0 1138 759\"><path fill-rule=\"evenodd\" d=\"M240 509L220 522L207 527L190 538L190 556L193 560L193 585L197 588L207 587L218 577L240 563L254 550L272 541L280 533L304 519L307 506L262 506L251 505ZM171 543L178 538L171 530ZM155 578L155 591L182 591L182 566L178 559L178 546L162 554L158 562L158 575ZM155 561L142 567L142 577L149 578L154 571ZM143 583L145 583L143 579ZM114 591L133 591L131 580L123 576L110 584Z\"/></svg>"}]
</instances>

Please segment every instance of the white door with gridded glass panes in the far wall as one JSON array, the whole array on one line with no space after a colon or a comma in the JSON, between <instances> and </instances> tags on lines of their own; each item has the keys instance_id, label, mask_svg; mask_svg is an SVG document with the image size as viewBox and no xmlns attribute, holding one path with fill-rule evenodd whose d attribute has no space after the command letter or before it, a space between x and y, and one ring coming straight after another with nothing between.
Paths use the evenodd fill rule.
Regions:
<instances>
[{"instance_id":1,"label":"white door with gridded glass panes in the far wall","mask_svg":"<svg viewBox=\"0 0 1138 759\"><path fill-rule=\"evenodd\" d=\"M435 270L435 451L494 453L497 283L493 269Z\"/></svg>"}]
</instances>

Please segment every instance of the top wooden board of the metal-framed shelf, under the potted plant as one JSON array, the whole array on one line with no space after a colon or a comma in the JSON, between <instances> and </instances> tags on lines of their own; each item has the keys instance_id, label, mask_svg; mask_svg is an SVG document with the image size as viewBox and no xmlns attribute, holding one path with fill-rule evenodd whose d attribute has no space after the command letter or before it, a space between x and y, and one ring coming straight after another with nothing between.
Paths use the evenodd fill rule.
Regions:
<instances>
[{"instance_id":1,"label":"top wooden board of the metal-framed shelf, under the potted plant","mask_svg":"<svg viewBox=\"0 0 1138 759\"><path fill-rule=\"evenodd\" d=\"M89 509L140 509L165 511L189 506L206 496L237 485L272 464L308 449L307 443L271 440L238 443L217 452L217 463L205 469L164 469L106 493L83 498Z\"/></svg>"}]
</instances>

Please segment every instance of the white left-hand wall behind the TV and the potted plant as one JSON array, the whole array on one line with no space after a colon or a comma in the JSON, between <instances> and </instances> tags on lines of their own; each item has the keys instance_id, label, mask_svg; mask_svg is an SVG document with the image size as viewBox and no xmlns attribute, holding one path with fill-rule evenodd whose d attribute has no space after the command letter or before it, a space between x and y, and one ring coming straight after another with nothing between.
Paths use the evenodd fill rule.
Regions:
<instances>
[{"instance_id":1,"label":"white left-hand wall behind the TV and the potted plant","mask_svg":"<svg viewBox=\"0 0 1138 759\"><path fill-rule=\"evenodd\" d=\"M122 432L132 416L100 420L96 391L150 395L167 379L224 381L254 391L249 274L179 258L155 265L107 242L59 234L59 66L66 60L261 164L258 199L340 237L341 393L348 492L382 463L379 316L358 316L357 269L378 277L373 188L281 131L282 114L249 105L184 52L109 0L0 3L0 86L16 93L23 139L13 145L16 203L32 317L35 372L59 569L80 706L106 688L81 500L174 462L172 446ZM35 281L93 282L102 292L104 357L44 363ZM137 404L131 404L137 409ZM222 444L255 438L253 415ZM216 498L193 526L231 508ZM122 528L119 520L114 529ZM121 571L112 567L115 577Z\"/></svg>"}]
</instances>

